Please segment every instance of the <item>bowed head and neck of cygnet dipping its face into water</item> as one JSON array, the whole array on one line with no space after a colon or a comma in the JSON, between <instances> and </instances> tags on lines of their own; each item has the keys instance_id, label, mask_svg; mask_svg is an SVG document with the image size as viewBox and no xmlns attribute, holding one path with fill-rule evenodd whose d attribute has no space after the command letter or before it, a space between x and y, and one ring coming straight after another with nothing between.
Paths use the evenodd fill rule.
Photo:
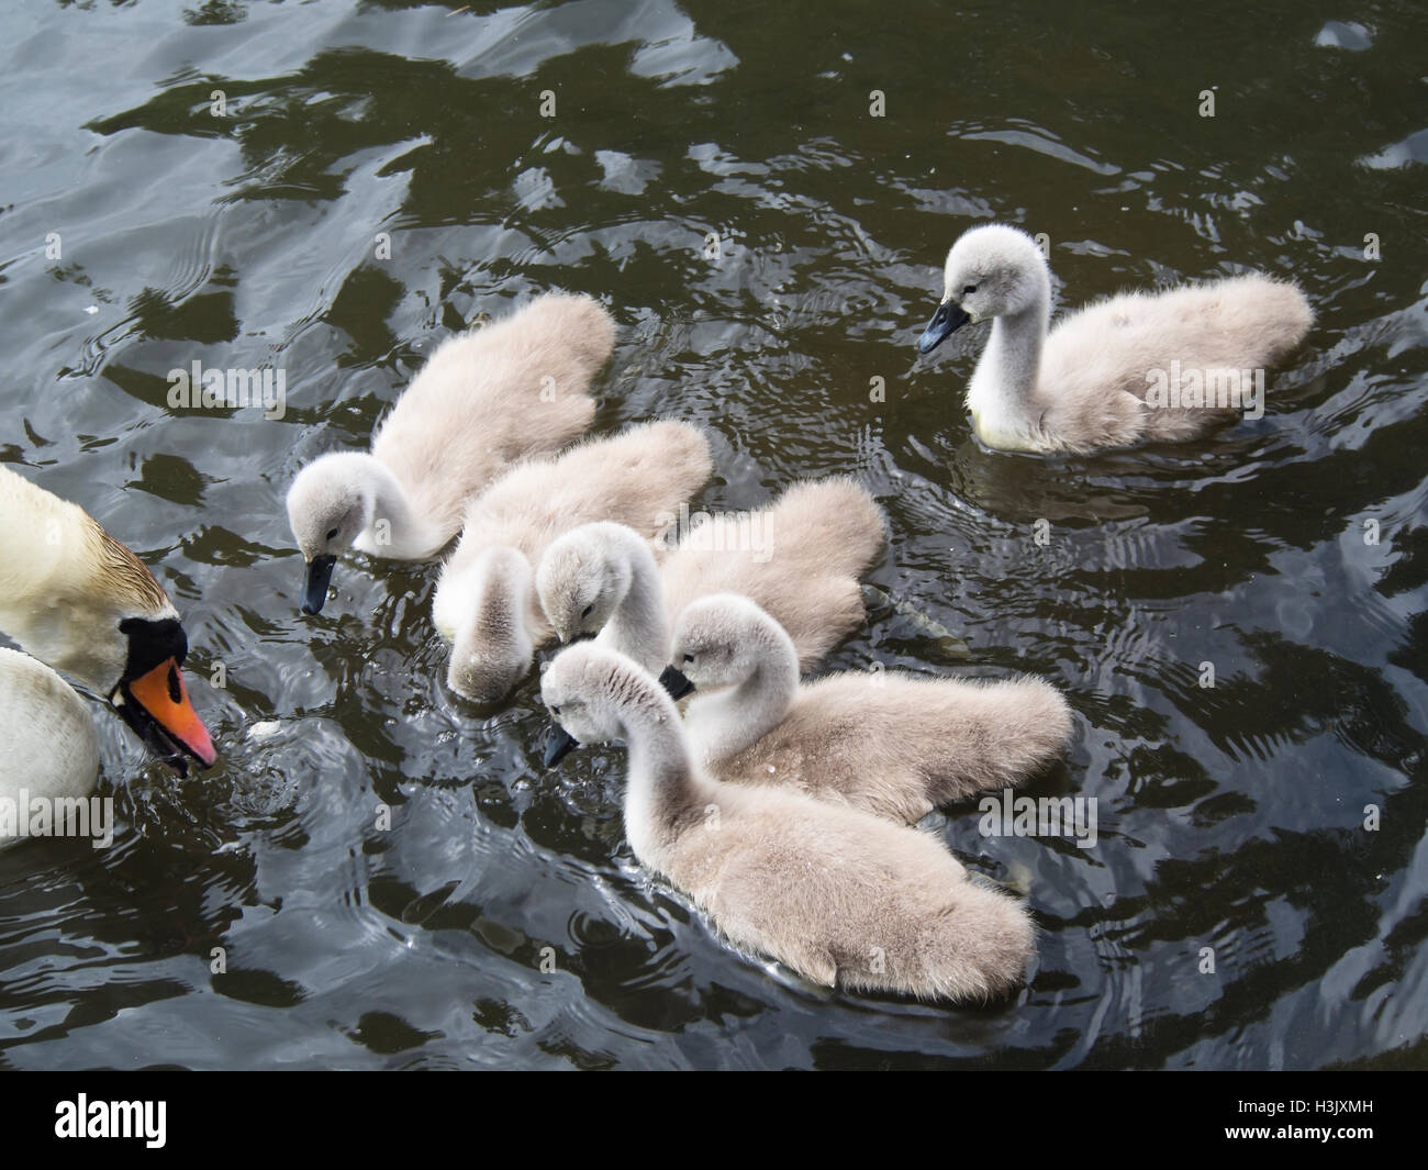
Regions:
<instances>
[{"instance_id":1,"label":"bowed head and neck of cygnet dipping its face into water","mask_svg":"<svg viewBox=\"0 0 1428 1170\"><path fill-rule=\"evenodd\" d=\"M447 686L473 703L498 703L536 659L527 613L531 567L518 549L487 549L443 590L460 590L451 610L454 641Z\"/></svg>"}]
</instances>

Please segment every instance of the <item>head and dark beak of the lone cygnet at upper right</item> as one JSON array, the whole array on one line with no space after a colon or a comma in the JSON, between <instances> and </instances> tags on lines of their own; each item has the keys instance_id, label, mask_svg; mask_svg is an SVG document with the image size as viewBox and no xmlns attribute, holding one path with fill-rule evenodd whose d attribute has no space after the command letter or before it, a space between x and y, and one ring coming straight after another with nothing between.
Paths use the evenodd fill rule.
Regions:
<instances>
[{"instance_id":1,"label":"head and dark beak of the lone cygnet at upper right","mask_svg":"<svg viewBox=\"0 0 1428 1170\"><path fill-rule=\"evenodd\" d=\"M964 231L942 269L942 300L917 341L931 353L968 321L985 321L1044 304L1047 260L1037 241L1017 227L988 223Z\"/></svg>"}]
</instances>

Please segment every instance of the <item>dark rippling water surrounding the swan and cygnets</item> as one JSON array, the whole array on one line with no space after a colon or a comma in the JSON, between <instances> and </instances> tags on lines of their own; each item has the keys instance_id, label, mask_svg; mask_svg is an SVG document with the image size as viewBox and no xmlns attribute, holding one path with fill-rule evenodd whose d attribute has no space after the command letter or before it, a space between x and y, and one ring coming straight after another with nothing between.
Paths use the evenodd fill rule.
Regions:
<instances>
[{"instance_id":1,"label":"dark rippling water surrounding the swan and cygnets","mask_svg":"<svg viewBox=\"0 0 1428 1170\"><path fill-rule=\"evenodd\" d=\"M0 1066L1421 1064L1421 6L453 7L0 17L0 460L154 569L224 753L176 780L96 709L114 847L0 853ZM984 217L1050 236L1062 307L1259 267L1319 320L1220 440L991 454L985 330L912 347ZM1032 793L1095 797L1097 846L941 827L1042 929L1014 1000L825 994L720 946L624 844L623 751L544 774L534 680L496 716L446 691L436 566L346 566L298 617L297 467L551 287L618 317L600 430L710 430L703 504L878 496L897 606L833 666L1067 690ZM281 369L284 417L169 409L194 360Z\"/></svg>"}]
</instances>

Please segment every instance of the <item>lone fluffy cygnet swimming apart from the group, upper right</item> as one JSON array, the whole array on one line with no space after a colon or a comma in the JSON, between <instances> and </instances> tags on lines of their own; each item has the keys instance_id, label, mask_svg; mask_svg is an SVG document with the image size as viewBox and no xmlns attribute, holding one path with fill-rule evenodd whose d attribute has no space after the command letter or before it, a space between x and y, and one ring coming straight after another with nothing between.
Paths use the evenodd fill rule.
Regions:
<instances>
[{"instance_id":1,"label":"lone fluffy cygnet swimming apart from the group, upper right","mask_svg":"<svg viewBox=\"0 0 1428 1170\"><path fill-rule=\"evenodd\" d=\"M930 353L960 326L992 319L967 391L972 427L988 447L1081 453L1195 439L1244 409L1262 409L1250 399L1255 379L1314 321L1297 286L1259 273L1122 293L1048 333L1050 314L1051 273L1024 231L985 224L952 244L942 301L918 349ZM1162 393L1172 379L1174 397ZM1197 381L1208 401L1182 404L1197 400ZM1230 386L1240 387L1238 401Z\"/></svg>"}]
</instances>

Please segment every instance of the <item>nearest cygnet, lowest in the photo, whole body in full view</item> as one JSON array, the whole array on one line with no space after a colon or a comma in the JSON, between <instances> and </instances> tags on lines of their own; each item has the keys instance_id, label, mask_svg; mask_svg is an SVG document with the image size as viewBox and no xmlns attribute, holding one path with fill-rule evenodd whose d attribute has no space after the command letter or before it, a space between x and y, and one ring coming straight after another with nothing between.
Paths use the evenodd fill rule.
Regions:
<instances>
[{"instance_id":1,"label":"nearest cygnet, lowest in the photo, whole body in full view","mask_svg":"<svg viewBox=\"0 0 1428 1170\"><path fill-rule=\"evenodd\" d=\"M597 643L541 680L584 743L630 744L625 836L734 946L827 987L985 999L1032 953L1025 907L968 879L934 837L768 784L724 784L691 760L674 700Z\"/></svg>"}]
</instances>

